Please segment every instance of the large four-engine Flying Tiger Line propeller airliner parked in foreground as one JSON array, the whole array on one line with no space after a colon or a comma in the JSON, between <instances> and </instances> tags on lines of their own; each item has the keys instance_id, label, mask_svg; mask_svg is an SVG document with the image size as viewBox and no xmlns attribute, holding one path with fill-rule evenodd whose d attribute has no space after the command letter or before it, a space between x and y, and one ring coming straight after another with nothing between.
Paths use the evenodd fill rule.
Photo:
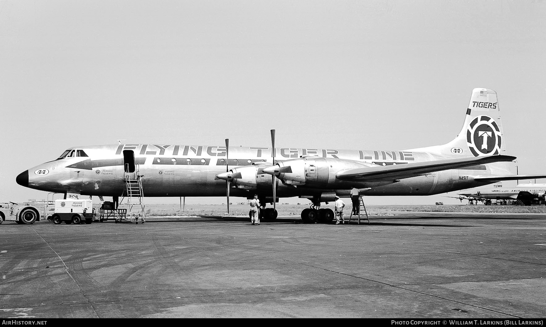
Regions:
<instances>
[{"instance_id":1,"label":"large four-engine Flying Tiger Line propeller airliner parked in foreground","mask_svg":"<svg viewBox=\"0 0 546 327\"><path fill-rule=\"evenodd\" d=\"M542 178L513 175L507 156L497 94L475 88L459 135L444 145L407 150L337 148L229 147L175 144L78 146L57 159L23 171L19 185L64 194L119 197L128 181L139 180L146 197L252 198L258 194L264 216L275 218L266 203L283 197L308 198L305 222L329 221L321 203L335 195L432 195L502 180ZM229 207L228 207L229 210Z\"/></svg>"}]
</instances>

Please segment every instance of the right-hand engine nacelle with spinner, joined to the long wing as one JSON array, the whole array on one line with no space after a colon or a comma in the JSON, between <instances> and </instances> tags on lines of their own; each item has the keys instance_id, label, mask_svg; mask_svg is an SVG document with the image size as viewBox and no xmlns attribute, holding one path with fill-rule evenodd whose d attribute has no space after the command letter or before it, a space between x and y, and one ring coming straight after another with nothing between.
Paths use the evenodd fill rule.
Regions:
<instances>
[{"instance_id":1,"label":"right-hand engine nacelle with spinner, joined to the long wing","mask_svg":"<svg viewBox=\"0 0 546 327\"><path fill-rule=\"evenodd\" d=\"M264 168L263 172L277 176L284 185L341 189L353 183L337 180L338 171L369 167L377 165L346 159L305 157L278 162L272 167Z\"/></svg>"}]
</instances>

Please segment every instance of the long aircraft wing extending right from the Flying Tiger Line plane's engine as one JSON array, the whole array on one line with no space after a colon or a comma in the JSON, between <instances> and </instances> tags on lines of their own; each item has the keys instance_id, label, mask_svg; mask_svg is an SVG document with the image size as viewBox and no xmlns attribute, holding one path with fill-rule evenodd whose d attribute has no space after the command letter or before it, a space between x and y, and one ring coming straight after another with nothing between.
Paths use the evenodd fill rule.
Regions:
<instances>
[{"instance_id":1,"label":"long aircraft wing extending right from the Flying Tiger Line plane's engine","mask_svg":"<svg viewBox=\"0 0 546 327\"><path fill-rule=\"evenodd\" d=\"M435 171L513 160L515 160L515 157L499 154L488 157L456 158L403 165L366 167L339 171L336 178L349 182L391 181L430 174Z\"/></svg>"}]
</instances>

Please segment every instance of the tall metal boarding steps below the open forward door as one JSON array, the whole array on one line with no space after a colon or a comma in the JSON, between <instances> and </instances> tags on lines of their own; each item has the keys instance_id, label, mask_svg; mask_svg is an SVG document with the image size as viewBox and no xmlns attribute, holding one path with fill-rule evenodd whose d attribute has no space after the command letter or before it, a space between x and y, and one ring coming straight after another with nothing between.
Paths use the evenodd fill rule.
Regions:
<instances>
[{"instance_id":1,"label":"tall metal boarding steps below the open forward door","mask_svg":"<svg viewBox=\"0 0 546 327\"><path fill-rule=\"evenodd\" d=\"M127 221L138 224L146 222L146 211L144 205L144 193L142 188L142 175L140 175L139 165L136 165L135 173L125 174L125 193L120 201L123 203L127 198L127 216L116 219L117 222Z\"/></svg>"}]
</instances>

